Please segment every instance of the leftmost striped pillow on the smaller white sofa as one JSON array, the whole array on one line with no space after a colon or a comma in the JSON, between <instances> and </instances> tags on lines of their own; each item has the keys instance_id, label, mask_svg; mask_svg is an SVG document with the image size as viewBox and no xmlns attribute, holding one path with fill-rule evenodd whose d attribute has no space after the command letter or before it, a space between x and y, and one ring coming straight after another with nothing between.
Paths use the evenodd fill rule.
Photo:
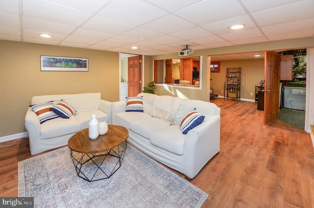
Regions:
<instances>
[{"instance_id":1,"label":"leftmost striped pillow on the smaller white sofa","mask_svg":"<svg viewBox=\"0 0 314 208\"><path fill-rule=\"evenodd\" d=\"M30 105L29 107L33 109L35 114L38 116L40 124L53 118L59 117L59 115L56 115L50 110L50 108L53 107L52 101L36 105Z\"/></svg>"}]
</instances>

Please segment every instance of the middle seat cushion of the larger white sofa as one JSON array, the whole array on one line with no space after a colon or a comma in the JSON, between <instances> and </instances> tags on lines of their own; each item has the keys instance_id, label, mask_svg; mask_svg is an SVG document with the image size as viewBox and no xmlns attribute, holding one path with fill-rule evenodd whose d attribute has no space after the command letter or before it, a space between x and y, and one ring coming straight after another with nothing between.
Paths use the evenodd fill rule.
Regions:
<instances>
[{"instance_id":1,"label":"middle seat cushion of the larger white sofa","mask_svg":"<svg viewBox=\"0 0 314 208\"><path fill-rule=\"evenodd\" d=\"M153 131L167 126L169 126L169 123L164 120L156 117L148 117L131 122L130 130L146 139L150 139Z\"/></svg>"}]
</instances>

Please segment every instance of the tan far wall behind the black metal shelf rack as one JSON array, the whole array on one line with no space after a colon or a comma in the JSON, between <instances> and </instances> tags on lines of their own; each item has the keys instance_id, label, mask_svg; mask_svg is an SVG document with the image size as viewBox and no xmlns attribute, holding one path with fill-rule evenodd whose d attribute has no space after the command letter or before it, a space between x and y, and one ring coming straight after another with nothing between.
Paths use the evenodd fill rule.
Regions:
<instances>
[{"instance_id":1,"label":"tan far wall behind the black metal shelf rack","mask_svg":"<svg viewBox=\"0 0 314 208\"><path fill-rule=\"evenodd\" d=\"M255 100L255 85L264 80L264 59L221 61L220 73L210 73L210 87L214 94L224 95L221 91L224 90L226 69L231 67L241 68L240 98Z\"/></svg>"}]
</instances>

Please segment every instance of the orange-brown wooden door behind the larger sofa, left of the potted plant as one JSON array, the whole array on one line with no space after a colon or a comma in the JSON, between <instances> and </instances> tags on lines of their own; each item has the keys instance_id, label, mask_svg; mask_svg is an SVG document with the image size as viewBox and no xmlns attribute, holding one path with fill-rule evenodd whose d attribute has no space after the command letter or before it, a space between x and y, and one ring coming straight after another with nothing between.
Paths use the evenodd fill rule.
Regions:
<instances>
[{"instance_id":1,"label":"orange-brown wooden door behind the larger sofa, left of the potted plant","mask_svg":"<svg viewBox=\"0 0 314 208\"><path fill-rule=\"evenodd\" d=\"M128 58L128 97L136 96L141 92L140 56Z\"/></svg>"}]
</instances>

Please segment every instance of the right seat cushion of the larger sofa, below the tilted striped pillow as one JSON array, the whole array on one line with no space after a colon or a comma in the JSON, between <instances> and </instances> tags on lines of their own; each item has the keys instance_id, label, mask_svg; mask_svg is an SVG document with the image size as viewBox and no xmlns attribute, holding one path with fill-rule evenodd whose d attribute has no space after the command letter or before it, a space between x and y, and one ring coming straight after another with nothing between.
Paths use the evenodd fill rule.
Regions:
<instances>
[{"instance_id":1,"label":"right seat cushion of the larger sofa, below the tilted striped pillow","mask_svg":"<svg viewBox=\"0 0 314 208\"><path fill-rule=\"evenodd\" d=\"M169 152L182 155L184 153L185 137L186 135L181 134L180 126L170 125L153 131L151 133L150 142Z\"/></svg>"}]
</instances>

